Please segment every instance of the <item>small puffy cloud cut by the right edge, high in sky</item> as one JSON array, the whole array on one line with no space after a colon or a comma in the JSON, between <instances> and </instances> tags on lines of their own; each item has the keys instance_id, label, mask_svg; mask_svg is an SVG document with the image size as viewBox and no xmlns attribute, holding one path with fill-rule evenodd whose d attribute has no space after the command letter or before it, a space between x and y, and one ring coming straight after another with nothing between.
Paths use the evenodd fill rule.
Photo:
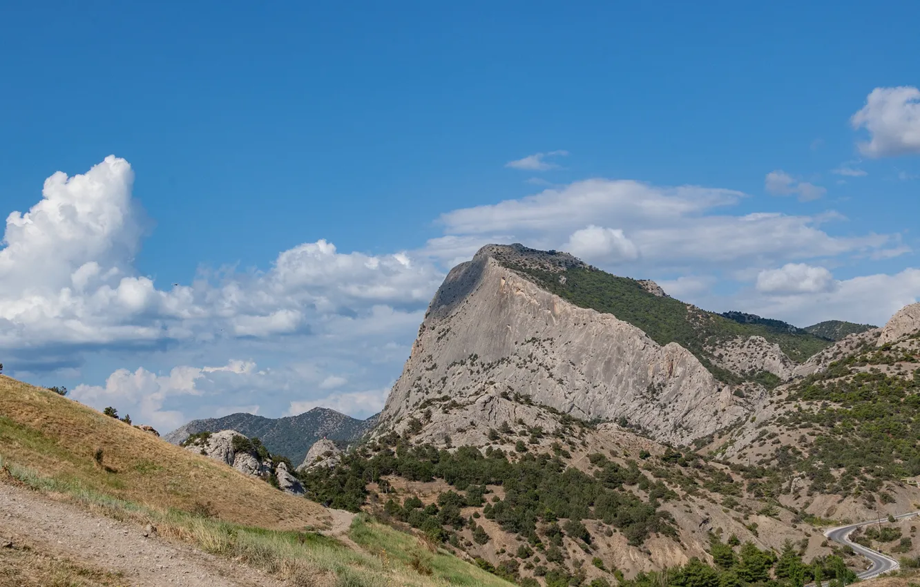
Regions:
<instances>
[{"instance_id":1,"label":"small puffy cloud cut by the right edge, high in sky","mask_svg":"<svg viewBox=\"0 0 920 587\"><path fill-rule=\"evenodd\" d=\"M868 142L859 150L872 157L920 153L920 89L914 86L877 87L866 105L850 119L865 128Z\"/></svg>"}]
</instances>

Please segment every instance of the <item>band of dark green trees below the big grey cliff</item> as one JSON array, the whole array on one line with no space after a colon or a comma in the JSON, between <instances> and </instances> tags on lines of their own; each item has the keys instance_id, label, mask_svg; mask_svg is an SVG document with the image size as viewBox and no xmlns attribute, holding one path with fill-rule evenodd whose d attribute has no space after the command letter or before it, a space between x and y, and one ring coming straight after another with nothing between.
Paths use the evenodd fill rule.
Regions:
<instances>
[{"instance_id":1,"label":"band of dark green trees below the big grey cliff","mask_svg":"<svg viewBox=\"0 0 920 587\"><path fill-rule=\"evenodd\" d=\"M431 446L408 448L400 445L394 453L385 449L371 458L349 455L334 469L319 469L301 478L305 488L317 499L331 501L331 507L357 512L364 504L365 484L387 475L410 481L442 478L465 496L444 497L441 507L417 510L411 504L387 504L391 515L419 527L432 539L445 541L453 529L467 522L459 508L482 505L487 485L504 488L503 500L493 500L483 513L501 528L539 542L537 522L551 523L559 518L576 523L599 520L619 530L631 544L640 545L653 533L673 535L671 517L658 509L661 500L674 497L661 481L651 482L632 463L628 467L604 462L595 477L565 466L558 456L524 454L514 462L501 450L489 447L482 455L475 447L462 446L454 453ZM640 501L624 485L646 491L649 501ZM408 509L407 509L408 508Z\"/></svg>"}]
</instances>

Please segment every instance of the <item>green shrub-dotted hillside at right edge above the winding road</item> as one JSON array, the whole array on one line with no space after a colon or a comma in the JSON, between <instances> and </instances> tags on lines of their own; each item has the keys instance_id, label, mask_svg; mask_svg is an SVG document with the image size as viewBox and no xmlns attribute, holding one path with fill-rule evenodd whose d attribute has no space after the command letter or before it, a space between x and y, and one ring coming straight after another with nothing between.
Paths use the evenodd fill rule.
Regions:
<instances>
[{"instance_id":1,"label":"green shrub-dotted hillside at right edge above the winding road","mask_svg":"<svg viewBox=\"0 0 920 587\"><path fill-rule=\"evenodd\" d=\"M733 466L748 492L776 499L804 478L808 495L862 495L868 508L890 502L886 483L920 475L920 355L912 348L866 343L791 386L786 409L753 439L773 448L756 466Z\"/></svg>"}]
</instances>

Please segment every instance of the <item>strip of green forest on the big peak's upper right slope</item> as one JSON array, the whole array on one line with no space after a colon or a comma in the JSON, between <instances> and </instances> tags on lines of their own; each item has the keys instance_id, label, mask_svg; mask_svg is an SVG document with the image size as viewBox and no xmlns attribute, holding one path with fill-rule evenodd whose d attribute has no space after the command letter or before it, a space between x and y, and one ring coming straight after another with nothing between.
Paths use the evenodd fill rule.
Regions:
<instances>
[{"instance_id":1,"label":"strip of green forest on the big peak's upper right slope","mask_svg":"<svg viewBox=\"0 0 920 587\"><path fill-rule=\"evenodd\" d=\"M778 344L790 359L802 362L830 345L829 340L798 330L788 332L769 324L742 324L688 306L673 297L659 297L645 291L636 280L602 270L572 268L562 273L565 280L560 282L559 273L511 263L509 268L523 273L547 291L574 305L613 314L641 328L659 344L677 342L693 352L713 374L730 382L737 377L713 366L708 347L736 337L762 336Z\"/></svg>"}]
</instances>

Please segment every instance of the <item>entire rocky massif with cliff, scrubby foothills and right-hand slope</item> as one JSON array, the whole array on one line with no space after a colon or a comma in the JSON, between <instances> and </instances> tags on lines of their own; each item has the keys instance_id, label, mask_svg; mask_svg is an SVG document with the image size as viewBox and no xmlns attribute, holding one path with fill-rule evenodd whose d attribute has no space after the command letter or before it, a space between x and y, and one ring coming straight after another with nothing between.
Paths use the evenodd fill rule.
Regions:
<instances>
[{"instance_id":1,"label":"entire rocky massif with cliff, scrubby foothills and right-hand slope","mask_svg":"<svg viewBox=\"0 0 920 587\"><path fill-rule=\"evenodd\" d=\"M916 509L918 367L920 305L834 342L491 245L435 294L366 442L317 445L298 476L520 584L646 587L685 565L791 585L792 560L805 582L865 569L822 526ZM860 544L920 555L889 524Z\"/></svg>"}]
</instances>

